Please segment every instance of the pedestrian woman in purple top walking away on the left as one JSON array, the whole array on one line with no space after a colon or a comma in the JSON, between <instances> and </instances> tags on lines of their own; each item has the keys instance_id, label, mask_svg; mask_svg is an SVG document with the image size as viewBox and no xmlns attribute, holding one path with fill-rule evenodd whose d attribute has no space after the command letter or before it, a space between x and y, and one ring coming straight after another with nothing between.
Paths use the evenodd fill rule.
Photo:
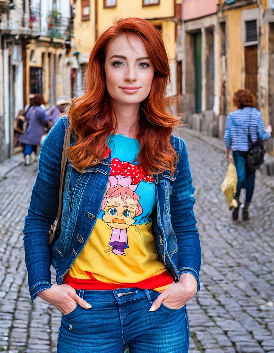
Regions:
<instances>
[{"instance_id":1,"label":"pedestrian woman in purple top walking away on the left","mask_svg":"<svg viewBox=\"0 0 274 353\"><path fill-rule=\"evenodd\" d=\"M37 145L40 145L41 137L44 134L45 127L45 110L41 108L41 104L44 104L44 98L42 94L36 94L30 100L30 107L27 110L25 121L27 122L27 128L23 135L19 137L19 142L23 144L25 164L30 164L30 155L34 151L37 152Z\"/></svg>"}]
</instances>

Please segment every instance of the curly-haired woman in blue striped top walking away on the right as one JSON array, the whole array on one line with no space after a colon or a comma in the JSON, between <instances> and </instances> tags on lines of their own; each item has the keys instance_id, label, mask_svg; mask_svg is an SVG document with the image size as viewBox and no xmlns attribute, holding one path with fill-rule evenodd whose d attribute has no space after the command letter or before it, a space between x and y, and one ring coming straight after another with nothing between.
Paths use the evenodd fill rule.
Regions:
<instances>
[{"instance_id":1,"label":"curly-haired woman in blue striped top walking away on the right","mask_svg":"<svg viewBox=\"0 0 274 353\"><path fill-rule=\"evenodd\" d=\"M229 161L230 149L233 151L233 158L237 170L237 193L234 195L238 203L238 207L232 212L233 220L236 221L239 216L239 202L241 189L246 189L245 204L243 208L243 220L249 219L249 204L254 191L255 170L247 167L247 154L249 149L248 143L248 127L253 141L258 138L269 140L272 127L269 125L264 129L262 115L257 110L256 98L247 89L239 89L234 97L233 103L238 108L231 112L226 118L224 140L226 143L225 157Z\"/></svg>"}]
</instances>

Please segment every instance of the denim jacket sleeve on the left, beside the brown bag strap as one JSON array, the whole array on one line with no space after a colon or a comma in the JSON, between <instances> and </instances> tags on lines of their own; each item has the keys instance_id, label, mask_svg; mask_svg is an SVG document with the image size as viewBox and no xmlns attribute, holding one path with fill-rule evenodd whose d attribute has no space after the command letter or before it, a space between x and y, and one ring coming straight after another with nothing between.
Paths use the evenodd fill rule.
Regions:
<instances>
[{"instance_id":1,"label":"denim jacket sleeve on the left, beside the brown bag strap","mask_svg":"<svg viewBox=\"0 0 274 353\"><path fill-rule=\"evenodd\" d=\"M37 297L37 293L51 287L48 239L50 227L58 211L65 131L63 119L60 119L44 140L30 207L25 218L23 233L31 303Z\"/></svg>"}]
</instances>

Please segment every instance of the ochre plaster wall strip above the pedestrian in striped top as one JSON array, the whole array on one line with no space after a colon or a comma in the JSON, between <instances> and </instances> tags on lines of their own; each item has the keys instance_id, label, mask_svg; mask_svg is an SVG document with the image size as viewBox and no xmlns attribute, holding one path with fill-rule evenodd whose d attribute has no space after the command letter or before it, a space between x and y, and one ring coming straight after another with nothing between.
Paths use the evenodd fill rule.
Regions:
<instances>
[{"instance_id":1,"label":"ochre plaster wall strip above the pedestrian in striped top","mask_svg":"<svg viewBox=\"0 0 274 353\"><path fill-rule=\"evenodd\" d=\"M229 111L235 110L233 95L243 88L244 47L242 42L242 11L257 7L251 5L224 11L228 26L228 95Z\"/></svg>"}]
</instances>

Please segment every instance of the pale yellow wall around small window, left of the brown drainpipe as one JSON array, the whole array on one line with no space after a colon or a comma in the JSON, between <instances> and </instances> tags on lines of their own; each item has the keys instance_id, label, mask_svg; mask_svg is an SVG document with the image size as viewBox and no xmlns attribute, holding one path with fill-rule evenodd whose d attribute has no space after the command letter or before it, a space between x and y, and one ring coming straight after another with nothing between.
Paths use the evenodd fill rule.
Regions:
<instances>
[{"instance_id":1,"label":"pale yellow wall around small window, left of the brown drainpipe","mask_svg":"<svg viewBox=\"0 0 274 353\"><path fill-rule=\"evenodd\" d=\"M89 0L89 6L89 20L82 22L81 0L76 1L74 44L79 53L89 53L95 42L95 0Z\"/></svg>"}]
</instances>

